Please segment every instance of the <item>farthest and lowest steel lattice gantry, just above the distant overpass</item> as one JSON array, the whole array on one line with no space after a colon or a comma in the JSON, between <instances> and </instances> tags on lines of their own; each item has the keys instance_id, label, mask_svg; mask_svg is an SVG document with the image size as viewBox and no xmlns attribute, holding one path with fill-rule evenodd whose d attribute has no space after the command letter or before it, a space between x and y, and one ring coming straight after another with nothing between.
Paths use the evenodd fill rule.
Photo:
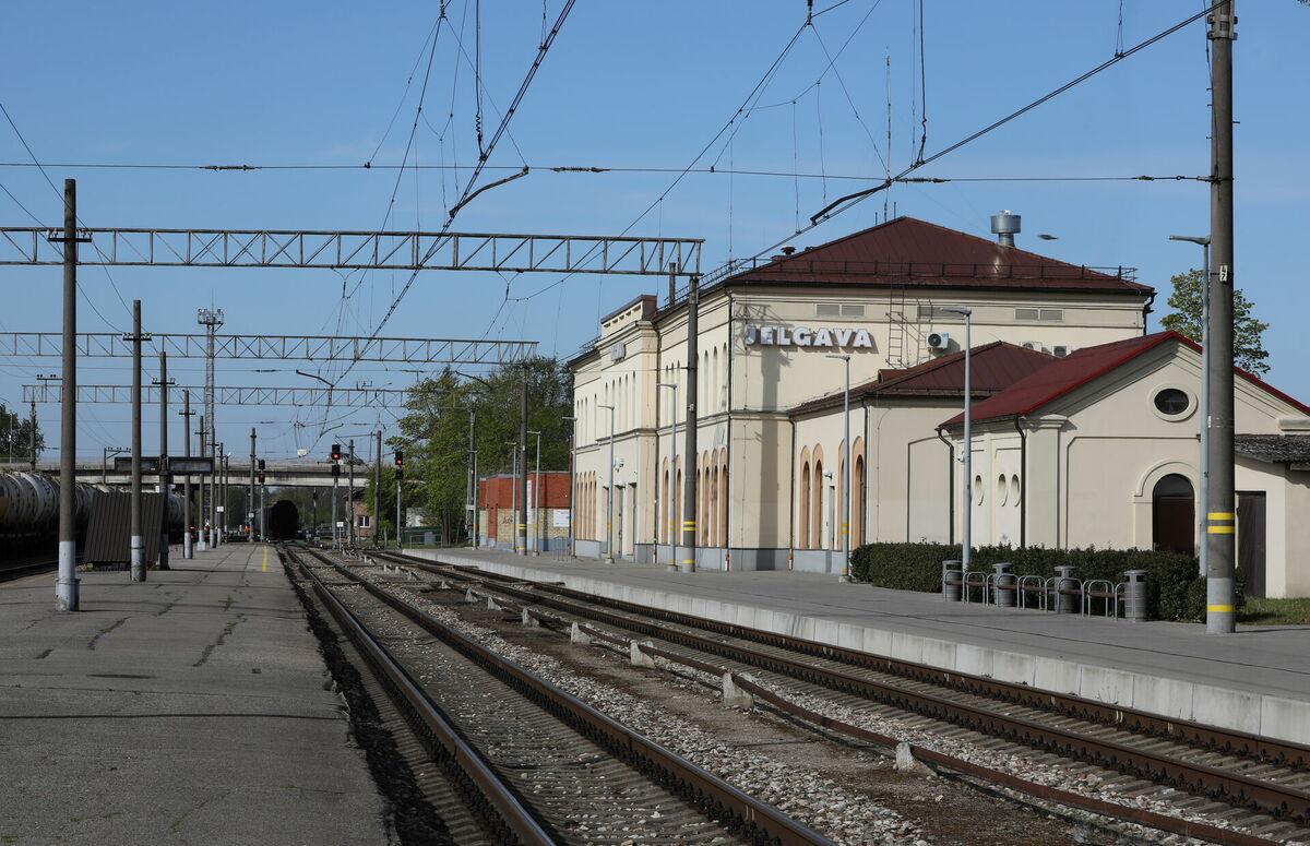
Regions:
<instances>
[{"instance_id":1,"label":"farthest and lowest steel lattice gantry, just above the distant overpass","mask_svg":"<svg viewBox=\"0 0 1310 846\"><path fill-rule=\"evenodd\" d=\"M159 385L141 386L141 402L160 401ZM170 385L168 401L181 403L185 392L202 388ZM22 401L38 403L63 402L59 382L24 385ZM215 388L214 402L220 406L331 406L334 409L403 409L409 392L400 388ZM128 403L131 385L77 385L77 402Z\"/></svg>"}]
</instances>

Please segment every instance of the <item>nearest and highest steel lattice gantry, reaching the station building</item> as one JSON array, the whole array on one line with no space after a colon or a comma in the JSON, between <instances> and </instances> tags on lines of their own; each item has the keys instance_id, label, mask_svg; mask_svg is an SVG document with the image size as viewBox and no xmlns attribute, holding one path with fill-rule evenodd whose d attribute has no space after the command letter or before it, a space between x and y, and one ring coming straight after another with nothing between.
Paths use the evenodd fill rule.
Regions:
<instances>
[{"instance_id":1,"label":"nearest and highest steel lattice gantry, reaching the station building","mask_svg":"<svg viewBox=\"0 0 1310 846\"><path fill-rule=\"evenodd\" d=\"M59 265L59 233L0 228L0 265ZM293 232L271 229L79 229L93 248L79 265L155 267L330 267L504 272L701 272L701 238L474 234L448 232Z\"/></svg>"}]
</instances>

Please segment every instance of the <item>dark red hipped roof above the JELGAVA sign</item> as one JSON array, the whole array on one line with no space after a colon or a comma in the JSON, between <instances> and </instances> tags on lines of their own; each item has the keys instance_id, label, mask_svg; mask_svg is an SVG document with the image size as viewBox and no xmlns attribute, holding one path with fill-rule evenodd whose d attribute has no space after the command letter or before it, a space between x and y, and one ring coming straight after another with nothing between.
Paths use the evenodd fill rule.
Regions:
<instances>
[{"instance_id":1,"label":"dark red hipped roof above the JELGAVA sign","mask_svg":"<svg viewBox=\"0 0 1310 846\"><path fill-rule=\"evenodd\" d=\"M1132 282L1131 275L1125 267L1070 265L914 217L896 217L823 246L777 255L727 282L1151 293L1153 288Z\"/></svg>"}]
</instances>

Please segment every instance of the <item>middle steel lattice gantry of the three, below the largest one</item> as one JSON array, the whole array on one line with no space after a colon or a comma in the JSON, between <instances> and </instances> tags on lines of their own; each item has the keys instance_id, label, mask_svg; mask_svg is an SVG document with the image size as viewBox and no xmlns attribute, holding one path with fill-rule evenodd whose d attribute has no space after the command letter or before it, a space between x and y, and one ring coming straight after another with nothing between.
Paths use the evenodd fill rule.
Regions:
<instances>
[{"instance_id":1,"label":"middle steel lattice gantry of the three, below the largest one","mask_svg":"<svg viewBox=\"0 0 1310 846\"><path fill-rule=\"evenodd\" d=\"M152 335L170 359L206 358L206 335ZM328 338L312 335L215 335L219 359L296 361L403 361L409 364L512 364L532 358L536 340L460 340L452 338ZM0 333L0 356L56 356L60 333ZM114 333L77 333L79 358L132 355L132 342Z\"/></svg>"}]
</instances>

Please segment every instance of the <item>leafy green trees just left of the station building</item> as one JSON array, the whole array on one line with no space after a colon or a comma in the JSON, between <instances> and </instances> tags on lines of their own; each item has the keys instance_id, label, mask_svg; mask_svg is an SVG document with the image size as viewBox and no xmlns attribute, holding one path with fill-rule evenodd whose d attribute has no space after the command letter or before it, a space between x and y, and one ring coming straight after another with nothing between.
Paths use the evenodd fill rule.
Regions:
<instances>
[{"instance_id":1,"label":"leafy green trees just left of the station building","mask_svg":"<svg viewBox=\"0 0 1310 846\"><path fill-rule=\"evenodd\" d=\"M441 537L462 537L468 495L469 423L474 415L473 448L481 477L508 473L519 437L519 403L528 392L528 431L541 432L541 469L569 469L572 375L557 359L534 358L506 364L487 376L453 369L423 380L410 389L409 414L400 420L401 435L388 444L405 449L405 506L423 509L424 519L441 526ZM528 436L528 464L534 469L537 437ZM394 477L384 478L379 521L390 526L396 511ZM364 498L372 507L372 488ZM394 526L392 526L394 530Z\"/></svg>"}]
</instances>

